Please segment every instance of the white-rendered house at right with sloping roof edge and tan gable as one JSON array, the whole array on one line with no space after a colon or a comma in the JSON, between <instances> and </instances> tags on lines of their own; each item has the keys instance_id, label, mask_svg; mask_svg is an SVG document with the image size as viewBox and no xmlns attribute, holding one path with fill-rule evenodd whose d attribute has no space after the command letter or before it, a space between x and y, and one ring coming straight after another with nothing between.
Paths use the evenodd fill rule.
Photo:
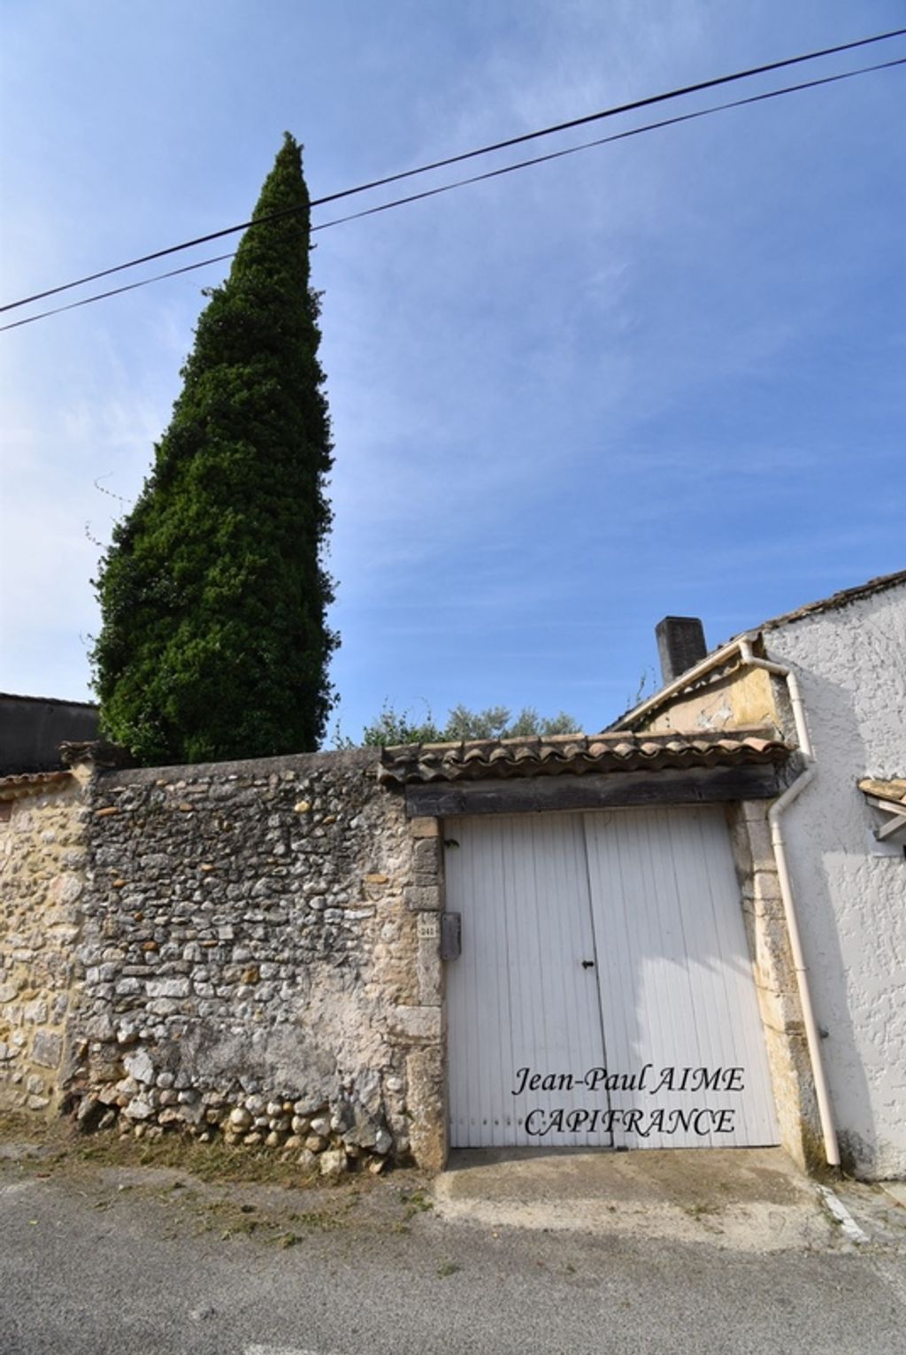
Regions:
<instances>
[{"instance_id":1,"label":"white-rendered house at right with sloping roof edge and tan gable","mask_svg":"<svg viewBox=\"0 0 906 1355\"><path fill-rule=\"evenodd\" d=\"M688 645L689 619L678 621L670 638ZM689 671L668 667L662 691L613 728L715 733L756 722L799 747L800 794L777 829L826 1130L856 1175L906 1176L906 572L776 617L711 654L699 642L683 650Z\"/></svg>"}]
</instances>

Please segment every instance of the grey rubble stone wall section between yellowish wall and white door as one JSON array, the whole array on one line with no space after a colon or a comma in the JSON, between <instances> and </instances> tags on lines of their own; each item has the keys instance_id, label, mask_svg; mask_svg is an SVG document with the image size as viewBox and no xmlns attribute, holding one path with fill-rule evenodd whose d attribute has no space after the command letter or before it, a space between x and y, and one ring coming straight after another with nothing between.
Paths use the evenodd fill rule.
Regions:
<instances>
[{"instance_id":1,"label":"grey rubble stone wall section between yellowish wall and white door","mask_svg":"<svg viewBox=\"0 0 906 1355\"><path fill-rule=\"evenodd\" d=\"M374 771L356 751L93 778L85 1125L440 1165L436 828Z\"/></svg>"}]
</instances>

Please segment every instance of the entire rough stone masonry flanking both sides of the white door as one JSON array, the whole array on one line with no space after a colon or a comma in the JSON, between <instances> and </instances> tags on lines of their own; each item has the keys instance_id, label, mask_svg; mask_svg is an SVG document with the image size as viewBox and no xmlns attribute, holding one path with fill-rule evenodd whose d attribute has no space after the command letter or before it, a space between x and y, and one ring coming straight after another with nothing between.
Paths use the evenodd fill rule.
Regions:
<instances>
[{"instance_id":1,"label":"entire rough stone masonry flanking both sides of the white door","mask_svg":"<svg viewBox=\"0 0 906 1355\"><path fill-rule=\"evenodd\" d=\"M406 818L368 749L89 770L0 786L0 1108L222 1134L326 1172L439 1168L439 822ZM729 816L783 1142L808 1164L765 806Z\"/></svg>"}]
</instances>

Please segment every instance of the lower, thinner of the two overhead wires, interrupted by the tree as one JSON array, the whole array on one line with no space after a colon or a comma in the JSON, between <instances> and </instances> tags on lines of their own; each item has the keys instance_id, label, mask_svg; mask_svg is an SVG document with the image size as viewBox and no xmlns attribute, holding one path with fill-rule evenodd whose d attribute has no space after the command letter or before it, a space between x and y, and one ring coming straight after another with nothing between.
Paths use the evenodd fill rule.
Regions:
<instances>
[{"instance_id":1,"label":"lower, thinner of the two overhead wires, interrupted by the tree","mask_svg":"<svg viewBox=\"0 0 906 1355\"><path fill-rule=\"evenodd\" d=\"M906 65L906 57L898 57L895 61L883 61L873 66L859 66L856 70L842 70L836 76L822 76L818 80L806 80L802 84L784 85L781 89L769 89L765 93L749 95L746 99L734 99L730 103L716 103L710 108L697 108L695 112L677 114L674 118L662 118L660 122L646 122L641 127L630 127L627 131L616 131L609 137L597 137L595 141L582 141L577 146L566 146L562 150L550 150L543 156L534 156L531 160L517 160L509 165L501 165L497 169L488 169L485 173L470 175L467 179L455 179L452 183L440 184L436 188L425 188L423 192L409 194L406 198L394 198L391 202L383 202L376 207L366 207L362 211L349 213L345 217L335 217L333 221L322 221L318 225L311 226L311 232L328 230L330 226L340 226L348 221L359 221L362 217L374 217L381 211L390 211L391 207L402 207L410 202L420 202L424 198L436 198L441 192L451 192L454 188L463 188L471 183L482 183L485 179L498 179L501 175L513 173L516 169L527 169L531 165L544 164L548 160L561 160L563 156L574 156L580 150L589 150L593 146L605 146L613 141L626 141L628 137L638 137L645 131L657 131L661 127L673 127L681 122L693 122L696 118L707 118L714 112L726 112L729 108L742 108L752 103L764 103L768 99L779 99L781 95L798 93L800 89L815 89L819 85L836 84L840 80L850 80L853 76L869 75L873 70L888 70L891 66ZM186 264L181 268L171 268L168 272L156 272L150 278L142 278L141 282L130 282L123 287L112 287L108 291L98 291L91 297L83 297L80 301L70 301L65 306L54 306L51 310L41 310L37 316L27 316L24 320L14 320L8 325L0 325L0 333L4 329L18 329L20 325L30 325L35 320L46 320L49 316L62 314L64 310L77 310L79 306L88 306L92 301L104 301L107 297L118 297L125 291L135 291L138 287L148 287L152 282L163 282L165 278L176 278L184 272L194 272L195 268L207 268L210 264L222 263L225 259L234 259L236 251L225 255L215 255L213 259L200 259L198 263Z\"/></svg>"}]
</instances>

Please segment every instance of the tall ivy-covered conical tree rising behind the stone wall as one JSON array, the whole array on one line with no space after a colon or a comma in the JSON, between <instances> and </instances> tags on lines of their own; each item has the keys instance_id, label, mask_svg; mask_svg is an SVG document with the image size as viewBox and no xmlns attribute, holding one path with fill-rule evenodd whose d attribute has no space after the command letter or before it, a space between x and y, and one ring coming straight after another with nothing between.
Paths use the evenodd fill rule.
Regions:
<instances>
[{"instance_id":1,"label":"tall ivy-covered conical tree rising behind the stone wall","mask_svg":"<svg viewBox=\"0 0 906 1355\"><path fill-rule=\"evenodd\" d=\"M102 728L146 766L313 749L333 703L332 444L288 133L253 220L209 293L152 474L95 581Z\"/></svg>"}]
</instances>

